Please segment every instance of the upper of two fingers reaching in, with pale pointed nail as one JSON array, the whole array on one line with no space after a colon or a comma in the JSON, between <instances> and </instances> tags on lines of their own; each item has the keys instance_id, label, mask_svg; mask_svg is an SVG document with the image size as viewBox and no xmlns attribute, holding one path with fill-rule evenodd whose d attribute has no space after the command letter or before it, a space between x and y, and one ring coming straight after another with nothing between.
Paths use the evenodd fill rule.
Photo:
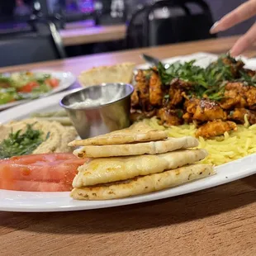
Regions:
<instances>
[{"instance_id":1,"label":"upper of two fingers reaching in, with pale pointed nail","mask_svg":"<svg viewBox=\"0 0 256 256\"><path fill-rule=\"evenodd\" d=\"M217 33L219 31L225 31L231 26L235 26L236 24L249 19L250 17L254 17L256 14L256 0L250 0L249 2L244 2L242 5L237 7L234 11L222 17L220 21L216 21L216 23L211 27L211 34Z\"/></svg>"}]
</instances>

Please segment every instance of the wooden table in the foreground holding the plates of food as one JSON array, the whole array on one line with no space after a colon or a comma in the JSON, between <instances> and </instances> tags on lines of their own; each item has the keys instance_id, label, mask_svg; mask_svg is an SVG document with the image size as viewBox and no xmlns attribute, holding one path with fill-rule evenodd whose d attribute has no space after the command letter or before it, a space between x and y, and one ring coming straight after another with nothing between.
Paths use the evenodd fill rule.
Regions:
<instances>
[{"instance_id":1,"label":"wooden table in the foreground holding the plates of food","mask_svg":"<svg viewBox=\"0 0 256 256\"><path fill-rule=\"evenodd\" d=\"M236 37L92 55L0 69L69 70L142 63L140 52L167 58L221 53ZM255 55L249 50L248 55ZM0 255L256 255L256 176L201 192L116 208L57 213L0 212Z\"/></svg>"}]
</instances>

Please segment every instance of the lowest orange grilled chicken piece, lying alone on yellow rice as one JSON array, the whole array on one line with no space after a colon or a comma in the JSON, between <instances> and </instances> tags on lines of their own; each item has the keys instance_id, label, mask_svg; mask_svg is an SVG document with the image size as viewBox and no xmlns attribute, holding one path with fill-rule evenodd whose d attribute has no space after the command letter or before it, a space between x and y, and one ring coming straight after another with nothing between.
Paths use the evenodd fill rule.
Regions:
<instances>
[{"instance_id":1,"label":"lowest orange grilled chicken piece, lying alone on yellow rice","mask_svg":"<svg viewBox=\"0 0 256 256\"><path fill-rule=\"evenodd\" d=\"M208 121L205 125L197 129L196 137L211 138L224 135L225 131L237 130L236 124L233 121Z\"/></svg>"}]
</instances>

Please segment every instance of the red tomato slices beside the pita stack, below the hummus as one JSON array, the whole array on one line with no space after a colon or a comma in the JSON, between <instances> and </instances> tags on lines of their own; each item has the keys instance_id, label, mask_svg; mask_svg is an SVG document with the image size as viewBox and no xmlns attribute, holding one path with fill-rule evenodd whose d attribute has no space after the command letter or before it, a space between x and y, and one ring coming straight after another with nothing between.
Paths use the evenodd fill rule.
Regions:
<instances>
[{"instance_id":1,"label":"red tomato slices beside the pita stack, below the hummus","mask_svg":"<svg viewBox=\"0 0 256 256\"><path fill-rule=\"evenodd\" d=\"M0 160L0 189L28 192L71 191L78 166L73 154L32 154Z\"/></svg>"}]
</instances>

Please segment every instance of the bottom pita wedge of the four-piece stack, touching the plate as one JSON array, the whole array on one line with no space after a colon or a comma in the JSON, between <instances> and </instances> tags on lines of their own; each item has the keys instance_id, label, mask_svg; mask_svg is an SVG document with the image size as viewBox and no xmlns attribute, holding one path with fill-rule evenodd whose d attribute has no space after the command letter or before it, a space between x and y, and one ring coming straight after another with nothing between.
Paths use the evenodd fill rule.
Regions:
<instances>
[{"instance_id":1,"label":"bottom pita wedge of the four-piece stack, touching the plate","mask_svg":"<svg viewBox=\"0 0 256 256\"><path fill-rule=\"evenodd\" d=\"M149 192L176 187L214 174L211 165L193 164L147 176L132 178L123 182L73 188L70 196L78 200L109 200L131 197Z\"/></svg>"}]
</instances>

